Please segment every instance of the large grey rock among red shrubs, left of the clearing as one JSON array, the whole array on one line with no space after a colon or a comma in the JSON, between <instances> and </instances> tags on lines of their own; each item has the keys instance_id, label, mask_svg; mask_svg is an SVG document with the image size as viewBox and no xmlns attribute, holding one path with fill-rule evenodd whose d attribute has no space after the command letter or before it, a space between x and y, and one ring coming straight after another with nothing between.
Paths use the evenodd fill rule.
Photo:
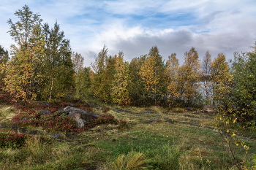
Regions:
<instances>
[{"instance_id":1,"label":"large grey rock among red shrubs, left of the clearing","mask_svg":"<svg viewBox=\"0 0 256 170\"><path fill-rule=\"evenodd\" d=\"M99 115L75 107L65 107L57 112L66 112L69 117L75 118L78 128L83 128L85 124L99 117Z\"/></svg>"}]
</instances>

